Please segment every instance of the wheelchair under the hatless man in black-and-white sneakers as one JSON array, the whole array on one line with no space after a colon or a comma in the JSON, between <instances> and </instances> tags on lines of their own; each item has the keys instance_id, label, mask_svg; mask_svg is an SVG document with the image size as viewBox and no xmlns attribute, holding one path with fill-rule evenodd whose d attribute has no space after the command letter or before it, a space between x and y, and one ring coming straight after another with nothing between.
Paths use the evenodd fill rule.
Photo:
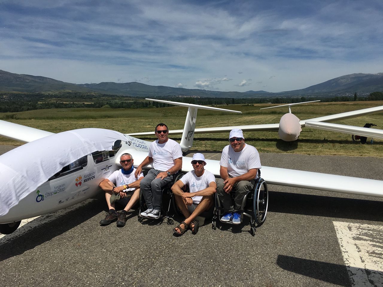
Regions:
<instances>
[{"instance_id":1,"label":"wheelchair under the hatless man in black-and-white sneakers","mask_svg":"<svg viewBox=\"0 0 383 287\"><path fill-rule=\"evenodd\" d=\"M177 182L180 178L182 178L183 175L184 175L183 173L178 171L178 173L174 174L173 181L171 181L170 183L165 185L164 188L162 189L160 217L158 219L154 219L152 217L146 217L146 216L142 216L141 215L141 212L146 210L147 206L145 204L144 195L142 194L142 192L140 190L140 194L139 194L139 208L138 208L138 214L137 214L137 220L139 222L142 223L144 221L144 219L149 219L149 220L159 220L160 219L160 220L164 220L164 218L166 217L166 219L167 219L166 223L168 225L174 224L172 208L173 208L173 210L175 210L175 207L177 207L177 204L175 204L175 200L173 200L172 186L173 186L173 184L175 182ZM165 204L165 207L164 207L164 204ZM175 213L177 214L178 210L175 211Z\"/></svg>"}]
</instances>

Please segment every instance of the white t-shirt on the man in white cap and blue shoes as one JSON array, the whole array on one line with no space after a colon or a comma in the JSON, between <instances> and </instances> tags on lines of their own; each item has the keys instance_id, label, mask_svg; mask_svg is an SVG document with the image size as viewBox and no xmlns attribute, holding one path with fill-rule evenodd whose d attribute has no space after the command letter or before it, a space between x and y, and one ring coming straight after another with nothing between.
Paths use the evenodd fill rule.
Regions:
<instances>
[{"instance_id":1,"label":"white t-shirt on the man in white cap and blue shoes","mask_svg":"<svg viewBox=\"0 0 383 287\"><path fill-rule=\"evenodd\" d=\"M237 177L247 173L252 168L261 168L259 153L252 145L245 144L240 152L234 152L231 145L223 148L219 165L228 168L228 174ZM258 178L258 174L255 178Z\"/></svg>"}]
</instances>

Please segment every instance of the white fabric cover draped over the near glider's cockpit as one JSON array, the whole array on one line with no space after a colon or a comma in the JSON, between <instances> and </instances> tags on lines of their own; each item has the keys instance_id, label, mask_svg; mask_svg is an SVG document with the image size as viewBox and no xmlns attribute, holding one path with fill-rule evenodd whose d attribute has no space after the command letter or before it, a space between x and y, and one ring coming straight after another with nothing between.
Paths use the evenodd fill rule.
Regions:
<instances>
[{"instance_id":1,"label":"white fabric cover draped over the near glider's cockpit","mask_svg":"<svg viewBox=\"0 0 383 287\"><path fill-rule=\"evenodd\" d=\"M0 216L64 166L97 150L111 150L120 132L77 129L49 135L0 155Z\"/></svg>"}]
</instances>

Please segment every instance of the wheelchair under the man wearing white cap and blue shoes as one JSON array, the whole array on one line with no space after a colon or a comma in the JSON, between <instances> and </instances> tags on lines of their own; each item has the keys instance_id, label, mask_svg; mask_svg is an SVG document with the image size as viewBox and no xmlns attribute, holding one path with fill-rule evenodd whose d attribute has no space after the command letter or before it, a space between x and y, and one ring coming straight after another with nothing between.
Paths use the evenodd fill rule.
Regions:
<instances>
[{"instance_id":1,"label":"wheelchair under the man wearing white cap and blue shoes","mask_svg":"<svg viewBox=\"0 0 383 287\"><path fill-rule=\"evenodd\" d=\"M267 207L268 207L268 189L266 181L260 177L260 170L258 170L259 178L255 181L255 188L248 191L244 196L241 204L243 213L241 215L241 223L244 220L244 216L249 217L250 234L255 236L255 228L260 227L266 220ZM231 193L231 198L234 201L235 192ZM221 221L223 214L223 207L219 201L218 194L215 197L215 209L213 214L212 226L216 230L217 223L232 224L231 221Z\"/></svg>"}]
</instances>

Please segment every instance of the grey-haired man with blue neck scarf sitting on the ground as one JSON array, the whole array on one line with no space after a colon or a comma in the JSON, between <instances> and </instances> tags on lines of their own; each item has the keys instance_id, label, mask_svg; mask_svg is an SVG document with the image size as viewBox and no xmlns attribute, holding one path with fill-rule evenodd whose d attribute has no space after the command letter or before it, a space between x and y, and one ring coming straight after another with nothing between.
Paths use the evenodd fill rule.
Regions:
<instances>
[{"instance_id":1,"label":"grey-haired man with blue neck scarf sitting on the ground","mask_svg":"<svg viewBox=\"0 0 383 287\"><path fill-rule=\"evenodd\" d=\"M121 169L116 170L99 184L100 188L105 191L106 204L109 208L105 219L100 221L102 225L117 220L117 226L123 227L126 223L126 213L138 201L140 181L144 178L144 174L140 172L136 175L134 173L136 169L133 167L133 157L130 153L121 155L120 164ZM116 212L115 202L124 207L121 212Z\"/></svg>"}]
</instances>

